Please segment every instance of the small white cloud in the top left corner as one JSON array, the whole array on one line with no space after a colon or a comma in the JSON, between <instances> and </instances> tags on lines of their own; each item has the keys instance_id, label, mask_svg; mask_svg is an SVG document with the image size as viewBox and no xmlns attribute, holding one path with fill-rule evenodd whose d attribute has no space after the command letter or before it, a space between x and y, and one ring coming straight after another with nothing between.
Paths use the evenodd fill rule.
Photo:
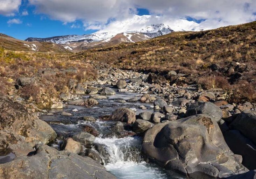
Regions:
<instances>
[{"instance_id":1,"label":"small white cloud in the top left corner","mask_svg":"<svg viewBox=\"0 0 256 179\"><path fill-rule=\"evenodd\" d=\"M19 11L21 0L0 0L0 15L13 16Z\"/></svg>"}]
</instances>

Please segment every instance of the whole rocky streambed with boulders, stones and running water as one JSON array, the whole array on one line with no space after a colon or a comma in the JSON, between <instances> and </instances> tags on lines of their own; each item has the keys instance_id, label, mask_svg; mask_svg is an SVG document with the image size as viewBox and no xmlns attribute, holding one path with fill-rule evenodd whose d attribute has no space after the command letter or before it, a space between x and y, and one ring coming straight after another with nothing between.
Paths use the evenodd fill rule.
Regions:
<instances>
[{"instance_id":1,"label":"whole rocky streambed with boulders, stones and running water","mask_svg":"<svg viewBox=\"0 0 256 179\"><path fill-rule=\"evenodd\" d=\"M222 89L104 69L60 99L40 111L1 97L1 178L255 175L254 106L229 104Z\"/></svg>"}]
</instances>

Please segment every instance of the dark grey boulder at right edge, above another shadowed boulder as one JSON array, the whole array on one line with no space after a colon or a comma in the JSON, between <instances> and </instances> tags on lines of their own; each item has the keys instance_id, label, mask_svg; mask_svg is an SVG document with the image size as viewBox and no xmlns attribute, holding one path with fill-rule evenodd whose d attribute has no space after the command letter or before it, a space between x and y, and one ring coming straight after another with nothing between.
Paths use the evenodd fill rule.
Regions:
<instances>
[{"instance_id":1,"label":"dark grey boulder at right edge, above another shadowed boulder","mask_svg":"<svg viewBox=\"0 0 256 179\"><path fill-rule=\"evenodd\" d=\"M256 145L256 110L242 112L231 123L230 127L239 130Z\"/></svg>"}]
</instances>

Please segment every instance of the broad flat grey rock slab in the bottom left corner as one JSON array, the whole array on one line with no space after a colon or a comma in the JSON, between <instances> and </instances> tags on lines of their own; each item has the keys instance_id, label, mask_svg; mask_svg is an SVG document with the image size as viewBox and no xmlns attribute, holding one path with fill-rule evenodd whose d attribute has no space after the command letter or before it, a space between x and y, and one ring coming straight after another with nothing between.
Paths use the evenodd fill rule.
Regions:
<instances>
[{"instance_id":1,"label":"broad flat grey rock slab in the bottom left corner","mask_svg":"<svg viewBox=\"0 0 256 179\"><path fill-rule=\"evenodd\" d=\"M47 145L38 145L34 156L18 156L1 164L0 178L5 179L115 179L104 166L89 157L67 151L58 151Z\"/></svg>"}]
</instances>

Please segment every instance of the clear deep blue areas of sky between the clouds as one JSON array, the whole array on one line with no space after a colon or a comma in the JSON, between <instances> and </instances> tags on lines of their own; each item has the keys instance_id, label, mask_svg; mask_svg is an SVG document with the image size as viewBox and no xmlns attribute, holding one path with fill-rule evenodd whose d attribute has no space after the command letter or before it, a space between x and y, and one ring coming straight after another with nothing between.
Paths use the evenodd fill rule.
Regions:
<instances>
[{"instance_id":1,"label":"clear deep blue areas of sky between the clouds","mask_svg":"<svg viewBox=\"0 0 256 179\"><path fill-rule=\"evenodd\" d=\"M52 37L61 35L83 35L91 34L97 30L86 30L83 23L79 20L70 23L64 23L59 20L52 20L47 15L35 14L33 6L22 5L20 13L15 16L0 15L0 33L12 36L14 38L25 40L28 37ZM28 12L28 15L22 15L22 12ZM149 15L147 9L137 8L137 15ZM20 24L8 24L12 19L19 19ZM74 24L75 27L72 27Z\"/></svg>"}]
</instances>

